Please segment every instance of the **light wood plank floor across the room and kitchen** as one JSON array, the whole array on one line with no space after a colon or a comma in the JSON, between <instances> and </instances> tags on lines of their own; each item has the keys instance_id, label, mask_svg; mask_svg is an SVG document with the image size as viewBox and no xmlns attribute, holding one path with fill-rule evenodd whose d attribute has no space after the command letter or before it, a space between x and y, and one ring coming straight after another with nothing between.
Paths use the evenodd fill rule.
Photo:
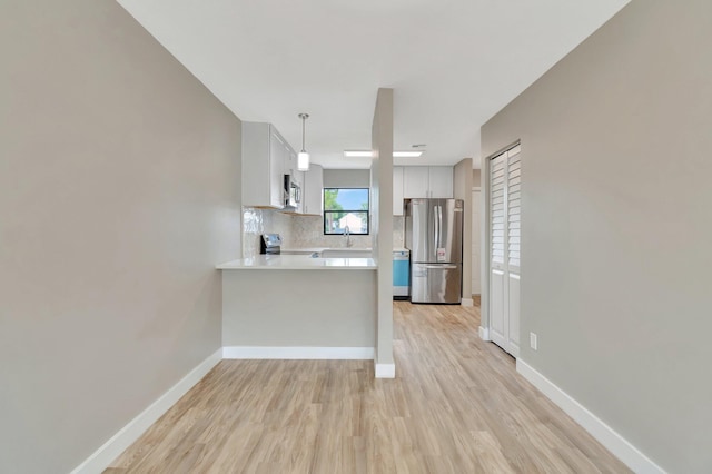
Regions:
<instances>
[{"instance_id":1,"label":"light wood plank floor across the room and kitchen","mask_svg":"<svg viewBox=\"0 0 712 474\"><path fill-rule=\"evenodd\" d=\"M478 322L395 303L395 379L367 361L222 361L105 473L630 472Z\"/></svg>"}]
</instances>

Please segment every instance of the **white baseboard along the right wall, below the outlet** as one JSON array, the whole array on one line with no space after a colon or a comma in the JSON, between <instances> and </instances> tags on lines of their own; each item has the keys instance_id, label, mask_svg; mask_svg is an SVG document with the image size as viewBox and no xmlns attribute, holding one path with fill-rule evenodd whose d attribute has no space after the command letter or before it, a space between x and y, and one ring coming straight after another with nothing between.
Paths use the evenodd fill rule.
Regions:
<instances>
[{"instance_id":1,"label":"white baseboard along the right wall, below the outlet","mask_svg":"<svg viewBox=\"0 0 712 474\"><path fill-rule=\"evenodd\" d=\"M558 405L633 472L637 474L665 474L662 467L641 453L627 440L521 358L516 359L516 372Z\"/></svg>"}]
</instances>

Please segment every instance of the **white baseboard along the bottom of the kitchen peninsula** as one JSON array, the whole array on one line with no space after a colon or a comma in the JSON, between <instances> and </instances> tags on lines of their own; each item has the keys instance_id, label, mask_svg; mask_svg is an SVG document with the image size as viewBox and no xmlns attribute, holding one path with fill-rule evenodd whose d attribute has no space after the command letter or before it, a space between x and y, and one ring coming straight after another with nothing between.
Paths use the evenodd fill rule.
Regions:
<instances>
[{"instance_id":1,"label":"white baseboard along the bottom of the kitchen peninsula","mask_svg":"<svg viewBox=\"0 0 712 474\"><path fill-rule=\"evenodd\" d=\"M222 347L222 358L373 361L374 356L374 347Z\"/></svg>"}]
</instances>

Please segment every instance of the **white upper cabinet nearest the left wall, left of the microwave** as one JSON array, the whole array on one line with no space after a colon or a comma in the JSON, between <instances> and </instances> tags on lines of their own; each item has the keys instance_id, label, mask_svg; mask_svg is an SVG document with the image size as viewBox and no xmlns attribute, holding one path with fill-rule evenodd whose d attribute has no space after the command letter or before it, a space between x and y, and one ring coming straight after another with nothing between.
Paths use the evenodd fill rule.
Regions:
<instances>
[{"instance_id":1,"label":"white upper cabinet nearest the left wall, left of the microwave","mask_svg":"<svg viewBox=\"0 0 712 474\"><path fill-rule=\"evenodd\" d=\"M287 147L273 125L243 122L243 206L284 207Z\"/></svg>"}]
</instances>

